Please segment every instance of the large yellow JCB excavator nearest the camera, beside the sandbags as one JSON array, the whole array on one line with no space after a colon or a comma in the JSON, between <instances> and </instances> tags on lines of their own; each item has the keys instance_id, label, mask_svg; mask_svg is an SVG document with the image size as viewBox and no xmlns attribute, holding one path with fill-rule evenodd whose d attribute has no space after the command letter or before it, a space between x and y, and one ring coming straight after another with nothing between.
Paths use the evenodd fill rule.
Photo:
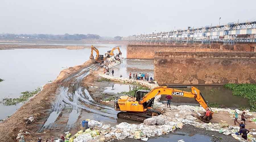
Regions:
<instances>
[{"instance_id":1,"label":"large yellow JCB excavator nearest the camera, beside the sandbags","mask_svg":"<svg viewBox=\"0 0 256 142\"><path fill-rule=\"evenodd\" d=\"M187 88L188 86L159 86L152 90L137 90L134 96L120 96L114 100L115 110L121 111L117 114L117 118L124 118L136 121L144 121L146 118L151 116L160 115L161 112L151 109L154 104L154 99L157 95L173 95L179 97L195 98L195 100L203 106L206 110L209 108L210 117L212 119L212 110L208 103L205 101L200 90L196 87L191 87L191 92L181 91L173 88ZM203 122L209 122L204 119L203 115L200 117Z\"/></svg>"}]
</instances>

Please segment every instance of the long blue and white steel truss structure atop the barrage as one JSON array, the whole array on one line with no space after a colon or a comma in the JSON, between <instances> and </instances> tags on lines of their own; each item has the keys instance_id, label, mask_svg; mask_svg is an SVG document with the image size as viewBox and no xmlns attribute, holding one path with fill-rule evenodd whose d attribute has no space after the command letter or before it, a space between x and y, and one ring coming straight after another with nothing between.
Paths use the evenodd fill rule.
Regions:
<instances>
[{"instance_id":1,"label":"long blue and white steel truss structure atop the barrage","mask_svg":"<svg viewBox=\"0 0 256 142\"><path fill-rule=\"evenodd\" d=\"M187 30L128 36L123 37L122 40L189 44L195 42L201 42L202 44L223 42L224 45L234 45L237 42L256 42L256 21L231 22L201 28L188 27Z\"/></svg>"}]
</instances>

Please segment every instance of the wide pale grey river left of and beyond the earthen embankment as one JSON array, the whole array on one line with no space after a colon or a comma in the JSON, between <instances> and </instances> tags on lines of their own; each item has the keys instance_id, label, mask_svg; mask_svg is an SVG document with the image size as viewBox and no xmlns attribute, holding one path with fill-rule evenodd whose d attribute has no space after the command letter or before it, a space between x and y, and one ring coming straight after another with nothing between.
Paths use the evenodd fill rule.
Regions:
<instances>
[{"instance_id":1,"label":"wide pale grey river left of and beyond the earthen embankment","mask_svg":"<svg viewBox=\"0 0 256 142\"><path fill-rule=\"evenodd\" d=\"M81 44L79 44L81 45ZM86 44L89 45L89 44ZM117 46L114 44L95 44L100 54ZM126 57L126 46L119 46ZM65 68L84 63L89 59L91 49L14 49L0 50L0 100L19 97L21 92L33 91L49 81L55 80ZM118 51L114 51L117 53ZM95 56L94 52L94 56ZM22 103L4 106L0 103L0 119L12 115Z\"/></svg>"}]
</instances>

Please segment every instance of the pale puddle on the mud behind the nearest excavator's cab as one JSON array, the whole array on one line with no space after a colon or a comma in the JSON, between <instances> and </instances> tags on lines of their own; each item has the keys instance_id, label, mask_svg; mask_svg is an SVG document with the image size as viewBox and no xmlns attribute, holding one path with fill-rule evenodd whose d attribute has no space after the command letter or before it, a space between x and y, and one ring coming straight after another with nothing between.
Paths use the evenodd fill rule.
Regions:
<instances>
[{"instance_id":1,"label":"pale puddle on the mud behind the nearest excavator's cab","mask_svg":"<svg viewBox=\"0 0 256 142\"><path fill-rule=\"evenodd\" d=\"M105 93L120 93L122 91L128 92L128 91L134 90L138 88L138 86L115 83L111 87L105 87L105 88L106 88L106 90L104 90Z\"/></svg>"}]
</instances>

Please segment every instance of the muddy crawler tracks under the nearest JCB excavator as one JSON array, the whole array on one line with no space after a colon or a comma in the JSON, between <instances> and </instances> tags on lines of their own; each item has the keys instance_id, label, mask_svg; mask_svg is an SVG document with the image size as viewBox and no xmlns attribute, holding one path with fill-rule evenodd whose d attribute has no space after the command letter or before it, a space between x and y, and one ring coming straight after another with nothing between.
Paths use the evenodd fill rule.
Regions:
<instances>
[{"instance_id":1,"label":"muddy crawler tracks under the nearest JCB excavator","mask_svg":"<svg viewBox=\"0 0 256 142\"><path fill-rule=\"evenodd\" d=\"M148 109L146 112L124 112L121 111L117 114L117 118L123 118L128 120L135 120L143 122L147 118L151 118L152 116L158 116L161 112L157 110Z\"/></svg>"}]
</instances>

